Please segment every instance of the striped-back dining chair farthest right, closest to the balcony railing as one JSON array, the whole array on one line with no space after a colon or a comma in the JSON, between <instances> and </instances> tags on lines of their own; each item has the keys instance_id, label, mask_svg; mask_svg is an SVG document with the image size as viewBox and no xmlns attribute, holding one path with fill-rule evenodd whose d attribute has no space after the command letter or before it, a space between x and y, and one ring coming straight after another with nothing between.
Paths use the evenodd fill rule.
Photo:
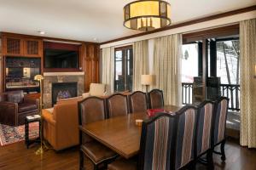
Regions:
<instances>
[{"instance_id":1,"label":"striped-back dining chair farthest right, closest to the balcony railing","mask_svg":"<svg viewBox=\"0 0 256 170\"><path fill-rule=\"evenodd\" d=\"M218 145L220 145L221 152L213 151L218 155L221 155L221 160L225 161L225 151L224 145L226 142L226 121L227 121L227 113L229 108L230 99L221 97L216 100L214 106L214 122L213 122L213 130L212 130L212 150Z\"/></svg>"}]
</instances>

